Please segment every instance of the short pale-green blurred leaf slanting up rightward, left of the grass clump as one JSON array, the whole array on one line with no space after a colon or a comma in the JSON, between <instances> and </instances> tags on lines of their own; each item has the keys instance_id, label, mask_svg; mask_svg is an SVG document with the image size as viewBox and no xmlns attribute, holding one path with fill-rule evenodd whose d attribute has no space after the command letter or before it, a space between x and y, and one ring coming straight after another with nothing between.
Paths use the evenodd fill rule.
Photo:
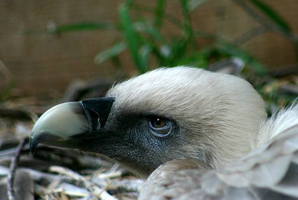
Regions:
<instances>
[{"instance_id":1,"label":"short pale-green blurred leaf slanting up rightward, left of the grass clump","mask_svg":"<svg viewBox=\"0 0 298 200\"><path fill-rule=\"evenodd\" d=\"M94 58L94 62L96 64L101 64L102 62L104 62L108 59L118 56L125 49L126 49L125 43L123 41L118 42L118 43L114 44L113 46L109 47L108 49L97 54Z\"/></svg>"}]
</instances>

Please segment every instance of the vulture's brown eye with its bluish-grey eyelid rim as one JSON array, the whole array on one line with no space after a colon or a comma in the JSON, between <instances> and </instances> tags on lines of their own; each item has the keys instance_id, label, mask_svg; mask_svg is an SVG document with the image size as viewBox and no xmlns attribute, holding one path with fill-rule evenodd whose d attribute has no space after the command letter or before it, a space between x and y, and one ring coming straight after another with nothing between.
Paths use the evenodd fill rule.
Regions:
<instances>
[{"instance_id":1,"label":"vulture's brown eye with its bluish-grey eyelid rim","mask_svg":"<svg viewBox=\"0 0 298 200\"><path fill-rule=\"evenodd\" d=\"M161 117L151 117L149 119L149 127L151 129L151 133L156 136L164 137L170 133L172 123Z\"/></svg>"}]
</instances>

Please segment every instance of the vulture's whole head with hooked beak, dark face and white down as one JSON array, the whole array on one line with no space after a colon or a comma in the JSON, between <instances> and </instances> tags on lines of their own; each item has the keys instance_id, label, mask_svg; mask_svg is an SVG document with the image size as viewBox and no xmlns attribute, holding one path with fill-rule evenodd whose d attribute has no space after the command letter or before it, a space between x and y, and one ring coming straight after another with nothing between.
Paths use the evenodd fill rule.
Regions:
<instances>
[{"instance_id":1,"label":"vulture's whole head with hooked beak, dark face and white down","mask_svg":"<svg viewBox=\"0 0 298 200\"><path fill-rule=\"evenodd\" d=\"M38 143L108 158L141 177L192 159L221 168L258 143L264 102L236 76L159 68L113 86L106 97L57 105L35 124Z\"/></svg>"}]
</instances>

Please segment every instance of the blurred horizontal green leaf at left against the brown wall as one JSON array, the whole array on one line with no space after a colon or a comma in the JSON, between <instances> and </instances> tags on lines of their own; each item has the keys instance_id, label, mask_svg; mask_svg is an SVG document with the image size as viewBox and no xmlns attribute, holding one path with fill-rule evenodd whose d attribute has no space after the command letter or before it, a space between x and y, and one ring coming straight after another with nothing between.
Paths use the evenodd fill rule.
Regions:
<instances>
[{"instance_id":1,"label":"blurred horizontal green leaf at left against the brown wall","mask_svg":"<svg viewBox=\"0 0 298 200\"><path fill-rule=\"evenodd\" d=\"M112 22L81 22L74 24L60 25L54 28L52 33L63 33L70 31L86 31L86 30L106 30L114 29L116 26Z\"/></svg>"}]
</instances>

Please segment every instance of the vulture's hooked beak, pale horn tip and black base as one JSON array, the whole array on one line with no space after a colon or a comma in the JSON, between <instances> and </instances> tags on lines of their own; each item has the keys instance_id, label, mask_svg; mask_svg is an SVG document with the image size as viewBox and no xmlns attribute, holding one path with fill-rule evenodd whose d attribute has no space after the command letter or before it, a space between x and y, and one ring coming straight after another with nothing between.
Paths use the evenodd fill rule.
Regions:
<instances>
[{"instance_id":1,"label":"vulture's hooked beak, pale horn tip and black base","mask_svg":"<svg viewBox=\"0 0 298 200\"><path fill-rule=\"evenodd\" d=\"M86 149L90 141L107 135L104 129L114 97L68 102L46 111L35 123L30 138L33 154L38 143Z\"/></svg>"}]
</instances>

